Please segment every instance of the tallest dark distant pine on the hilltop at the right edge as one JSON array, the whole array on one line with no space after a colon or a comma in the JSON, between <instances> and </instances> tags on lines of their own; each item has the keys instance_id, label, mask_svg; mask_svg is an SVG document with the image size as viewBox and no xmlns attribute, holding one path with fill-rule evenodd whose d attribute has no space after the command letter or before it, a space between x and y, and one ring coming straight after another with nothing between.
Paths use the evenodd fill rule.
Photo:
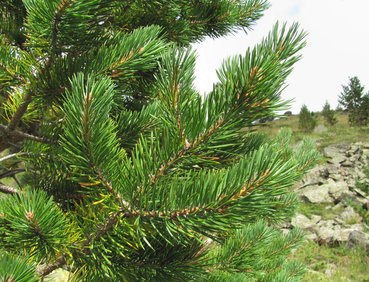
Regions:
<instances>
[{"instance_id":1,"label":"tallest dark distant pine on the hilltop at the right edge","mask_svg":"<svg viewBox=\"0 0 369 282\"><path fill-rule=\"evenodd\" d=\"M361 86L357 76L349 80L348 85L342 85L344 92L341 92L338 103L349 112L351 125L366 125L369 122L369 92L364 94L364 86Z\"/></svg>"}]
</instances>

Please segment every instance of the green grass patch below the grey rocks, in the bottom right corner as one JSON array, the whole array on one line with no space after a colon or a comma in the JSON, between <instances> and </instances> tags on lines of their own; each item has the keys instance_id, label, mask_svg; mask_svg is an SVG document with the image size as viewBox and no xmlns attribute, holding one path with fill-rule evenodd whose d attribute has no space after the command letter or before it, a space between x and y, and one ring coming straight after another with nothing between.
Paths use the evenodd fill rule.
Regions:
<instances>
[{"instance_id":1,"label":"green grass patch below the grey rocks, in the bottom right corner","mask_svg":"<svg viewBox=\"0 0 369 282\"><path fill-rule=\"evenodd\" d=\"M368 250L357 248L346 250L345 245L328 247L318 245L315 241L307 241L290 258L298 259L310 266L310 269L319 273L308 273L303 279L307 281L369 281ZM324 275L325 270L333 266L334 271L330 278Z\"/></svg>"}]
</instances>

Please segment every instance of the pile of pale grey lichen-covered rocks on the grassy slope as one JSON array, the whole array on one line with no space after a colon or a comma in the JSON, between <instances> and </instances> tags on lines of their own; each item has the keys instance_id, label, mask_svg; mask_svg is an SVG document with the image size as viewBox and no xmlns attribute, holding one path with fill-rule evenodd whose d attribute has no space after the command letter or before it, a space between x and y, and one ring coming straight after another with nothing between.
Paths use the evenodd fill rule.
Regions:
<instances>
[{"instance_id":1,"label":"pile of pale grey lichen-covered rocks on the grassy slope","mask_svg":"<svg viewBox=\"0 0 369 282\"><path fill-rule=\"evenodd\" d=\"M315 167L292 187L305 203L324 205L334 214L332 219L322 219L316 214L307 216L297 213L283 232L300 227L308 231L307 238L319 243L345 243L346 248L369 247L369 234L364 232L365 223L352 206L368 209L369 200L359 189L356 179L368 181L363 167L368 166L369 142L340 143L323 149L326 164Z\"/></svg>"}]
</instances>

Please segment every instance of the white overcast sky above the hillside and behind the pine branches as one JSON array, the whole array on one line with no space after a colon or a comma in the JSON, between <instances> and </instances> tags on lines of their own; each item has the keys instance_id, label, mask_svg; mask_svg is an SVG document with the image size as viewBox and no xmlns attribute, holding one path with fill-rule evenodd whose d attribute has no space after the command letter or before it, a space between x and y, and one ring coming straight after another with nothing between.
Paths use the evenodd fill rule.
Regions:
<instances>
[{"instance_id":1,"label":"white overcast sky above the hillside and behind the pine branches","mask_svg":"<svg viewBox=\"0 0 369 282\"><path fill-rule=\"evenodd\" d=\"M365 93L369 91L369 0L269 0L272 7L257 21L254 30L239 31L227 38L207 39L197 49L195 85L201 93L217 82L215 70L224 58L244 55L261 42L277 20L280 25L294 21L308 31L303 58L294 65L282 92L282 99L294 98L291 110L298 114L302 104L321 111L325 100L335 109L342 84L358 76Z\"/></svg>"}]
</instances>

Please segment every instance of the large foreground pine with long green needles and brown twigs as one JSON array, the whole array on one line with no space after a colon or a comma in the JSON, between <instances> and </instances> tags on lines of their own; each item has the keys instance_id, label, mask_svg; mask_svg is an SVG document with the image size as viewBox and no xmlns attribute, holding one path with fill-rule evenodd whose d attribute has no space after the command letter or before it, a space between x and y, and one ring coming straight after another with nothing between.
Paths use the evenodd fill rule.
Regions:
<instances>
[{"instance_id":1,"label":"large foreground pine with long green needles and brown twigs","mask_svg":"<svg viewBox=\"0 0 369 282\"><path fill-rule=\"evenodd\" d=\"M9 0L0 7L0 277L299 281L273 227L319 154L254 121L305 45L278 23L201 97L190 44L247 30L266 1ZM20 174L21 173L21 174ZM210 246L210 247L209 247Z\"/></svg>"}]
</instances>

